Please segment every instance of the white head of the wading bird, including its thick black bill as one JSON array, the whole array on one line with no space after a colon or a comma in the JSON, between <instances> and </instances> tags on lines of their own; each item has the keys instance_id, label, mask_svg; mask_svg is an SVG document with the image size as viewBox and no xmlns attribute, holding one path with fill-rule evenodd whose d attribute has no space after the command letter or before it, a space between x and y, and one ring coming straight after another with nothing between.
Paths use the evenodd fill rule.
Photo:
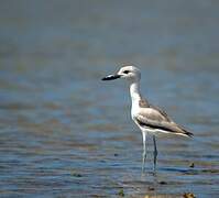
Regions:
<instances>
[{"instance_id":1,"label":"white head of the wading bird, including its thick black bill","mask_svg":"<svg viewBox=\"0 0 219 198\"><path fill-rule=\"evenodd\" d=\"M123 66L114 75L109 75L102 78L102 80L113 80L118 78L124 78L129 81L139 81L141 73L135 66Z\"/></svg>"}]
</instances>

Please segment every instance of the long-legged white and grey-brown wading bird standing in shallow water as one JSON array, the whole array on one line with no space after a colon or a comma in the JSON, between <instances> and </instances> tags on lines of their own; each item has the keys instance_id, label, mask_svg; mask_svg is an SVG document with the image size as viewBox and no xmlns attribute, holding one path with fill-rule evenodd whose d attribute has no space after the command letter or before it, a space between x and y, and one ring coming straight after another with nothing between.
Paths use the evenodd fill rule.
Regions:
<instances>
[{"instance_id":1,"label":"long-legged white and grey-brown wading bird standing in shallow water","mask_svg":"<svg viewBox=\"0 0 219 198\"><path fill-rule=\"evenodd\" d=\"M131 96L131 118L142 132L143 152L142 152L142 172L145 168L146 158L146 138L152 136L153 152L153 170L156 172L157 147L156 138L162 134L175 134L191 138L194 134L184 127L177 124L161 108L153 106L147 99L143 98L140 91L141 72L135 66L122 66L119 72L108 75L101 80L125 79L130 85Z\"/></svg>"}]
</instances>

